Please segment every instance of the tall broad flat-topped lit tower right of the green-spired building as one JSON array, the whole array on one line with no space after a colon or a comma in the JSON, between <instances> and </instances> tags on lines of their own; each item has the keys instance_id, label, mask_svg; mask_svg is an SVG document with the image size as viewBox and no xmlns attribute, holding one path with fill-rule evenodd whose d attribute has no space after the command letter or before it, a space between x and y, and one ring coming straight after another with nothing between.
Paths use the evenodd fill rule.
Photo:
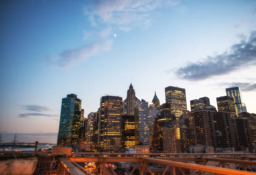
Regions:
<instances>
[{"instance_id":1,"label":"tall broad flat-topped lit tower right of the green-spired building","mask_svg":"<svg viewBox=\"0 0 256 175\"><path fill-rule=\"evenodd\" d=\"M187 113L186 91L183 88L169 86L165 88L166 103L171 104L171 111L176 119Z\"/></svg>"}]
</instances>

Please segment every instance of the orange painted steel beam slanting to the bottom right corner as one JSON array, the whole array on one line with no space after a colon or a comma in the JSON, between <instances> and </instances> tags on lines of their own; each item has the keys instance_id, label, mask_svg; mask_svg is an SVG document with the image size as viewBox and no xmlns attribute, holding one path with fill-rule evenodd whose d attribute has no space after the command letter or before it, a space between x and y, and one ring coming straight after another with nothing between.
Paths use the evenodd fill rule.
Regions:
<instances>
[{"instance_id":1,"label":"orange painted steel beam slanting to the bottom right corner","mask_svg":"<svg viewBox=\"0 0 256 175\"><path fill-rule=\"evenodd\" d=\"M236 169L227 169L227 168L218 168L214 166L206 166L206 165L197 165L197 164L188 164L188 163L182 163L182 162L176 162L176 161L166 161L166 160L160 160L160 159L154 159L154 158L142 158L145 161L157 163L157 164L165 164L169 166L175 166L180 168L186 168L186 169L195 169L199 171L205 171L205 172L212 172L216 174L222 174L222 175L255 175L254 172L247 172L247 171L241 171Z\"/></svg>"}]
</instances>

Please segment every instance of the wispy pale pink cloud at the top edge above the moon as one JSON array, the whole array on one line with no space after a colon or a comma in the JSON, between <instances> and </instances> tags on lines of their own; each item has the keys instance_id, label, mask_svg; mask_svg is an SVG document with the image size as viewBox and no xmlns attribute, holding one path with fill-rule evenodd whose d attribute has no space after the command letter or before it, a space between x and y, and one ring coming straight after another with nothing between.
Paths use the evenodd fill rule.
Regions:
<instances>
[{"instance_id":1,"label":"wispy pale pink cloud at the top edge above the moon","mask_svg":"<svg viewBox=\"0 0 256 175\"><path fill-rule=\"evenodd\" d=\"M84 14L93 26L96 23L137 26L150 20L155 9L179 3L180 0L102 0L85 7Z\"/></svg>"}]
</instances>

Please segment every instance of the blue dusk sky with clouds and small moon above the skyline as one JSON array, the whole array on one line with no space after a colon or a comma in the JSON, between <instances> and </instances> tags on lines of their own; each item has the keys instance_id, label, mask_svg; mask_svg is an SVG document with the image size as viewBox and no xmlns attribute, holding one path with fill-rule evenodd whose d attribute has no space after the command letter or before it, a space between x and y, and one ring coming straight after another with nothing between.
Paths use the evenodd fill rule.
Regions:
<instances>
[{"instance_id":1,"label":"blue dusk sky with clouds and small moon above the skyline","mask_svg":"<svg viewBox=\"0 0 256 175\"><path fill-rule=\"evenodd\" d=\"M239 86L256 113L254 0L2 0L2 140L56 143L61 100L74 93L85 116L100 98L151 102L165 87L189 100Z\"/></svg>"}]
</instances>

